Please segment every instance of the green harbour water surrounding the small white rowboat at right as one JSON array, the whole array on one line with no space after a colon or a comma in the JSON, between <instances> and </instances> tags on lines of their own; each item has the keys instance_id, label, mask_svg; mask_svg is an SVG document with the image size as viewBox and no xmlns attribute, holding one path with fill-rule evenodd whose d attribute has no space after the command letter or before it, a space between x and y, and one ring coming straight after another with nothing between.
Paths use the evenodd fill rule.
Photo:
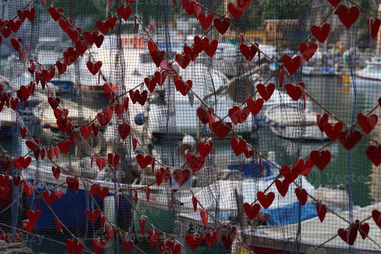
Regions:
<instances>
[{"instance_id":1,"label":"green harbour water surrounding the small white rowboat at right","mask_svg":"<svg viewBox=\"0 0 381 254\"><path fill-rule=\"evenodd\" d=\"M318 80L318 81L317 81ZM304 77L306 89L312 97L328 109L333 115L343 120L347 124L352 123L352 112L354 108L354 91L353 88L343 84L341 85L339 77L320 76L320 77ZM380 94L368 89L359 91L357 95L357 105L355 116L364 110L372 109L378 102ZM310 109L323 114L325 113L317 104L311 102ZM355 117L355 122L357 118ZM356 126L360 129L360 126ZM344 126L345 128L345 126ZM374 132L374 131L373 131ZM374 136L374 133L370 136ZM271 133L268 126L264 125L258 129L258 148L263 154L268 151L277 152L277 163L280 165L292 165L295 160L295 152L300 149L301 157L308 157L311 150L319 149L327 141L322 142L301 142L280 139ZM372 163L365 155L365 149L369 145L369 141L362 138L358 144L352 149L351 168L352 168L352 200L355 205L367 206L373 202L370 197L370 182ZM301 145L300 147L298 145ZM331 186L339 184L349 184L349 152L336 140L326 149L331 152L332 158L327 167L320 171L316 166L311 171L307 179L315 186L320 184L328 184Z\"/></svg>"}]
</instances>

